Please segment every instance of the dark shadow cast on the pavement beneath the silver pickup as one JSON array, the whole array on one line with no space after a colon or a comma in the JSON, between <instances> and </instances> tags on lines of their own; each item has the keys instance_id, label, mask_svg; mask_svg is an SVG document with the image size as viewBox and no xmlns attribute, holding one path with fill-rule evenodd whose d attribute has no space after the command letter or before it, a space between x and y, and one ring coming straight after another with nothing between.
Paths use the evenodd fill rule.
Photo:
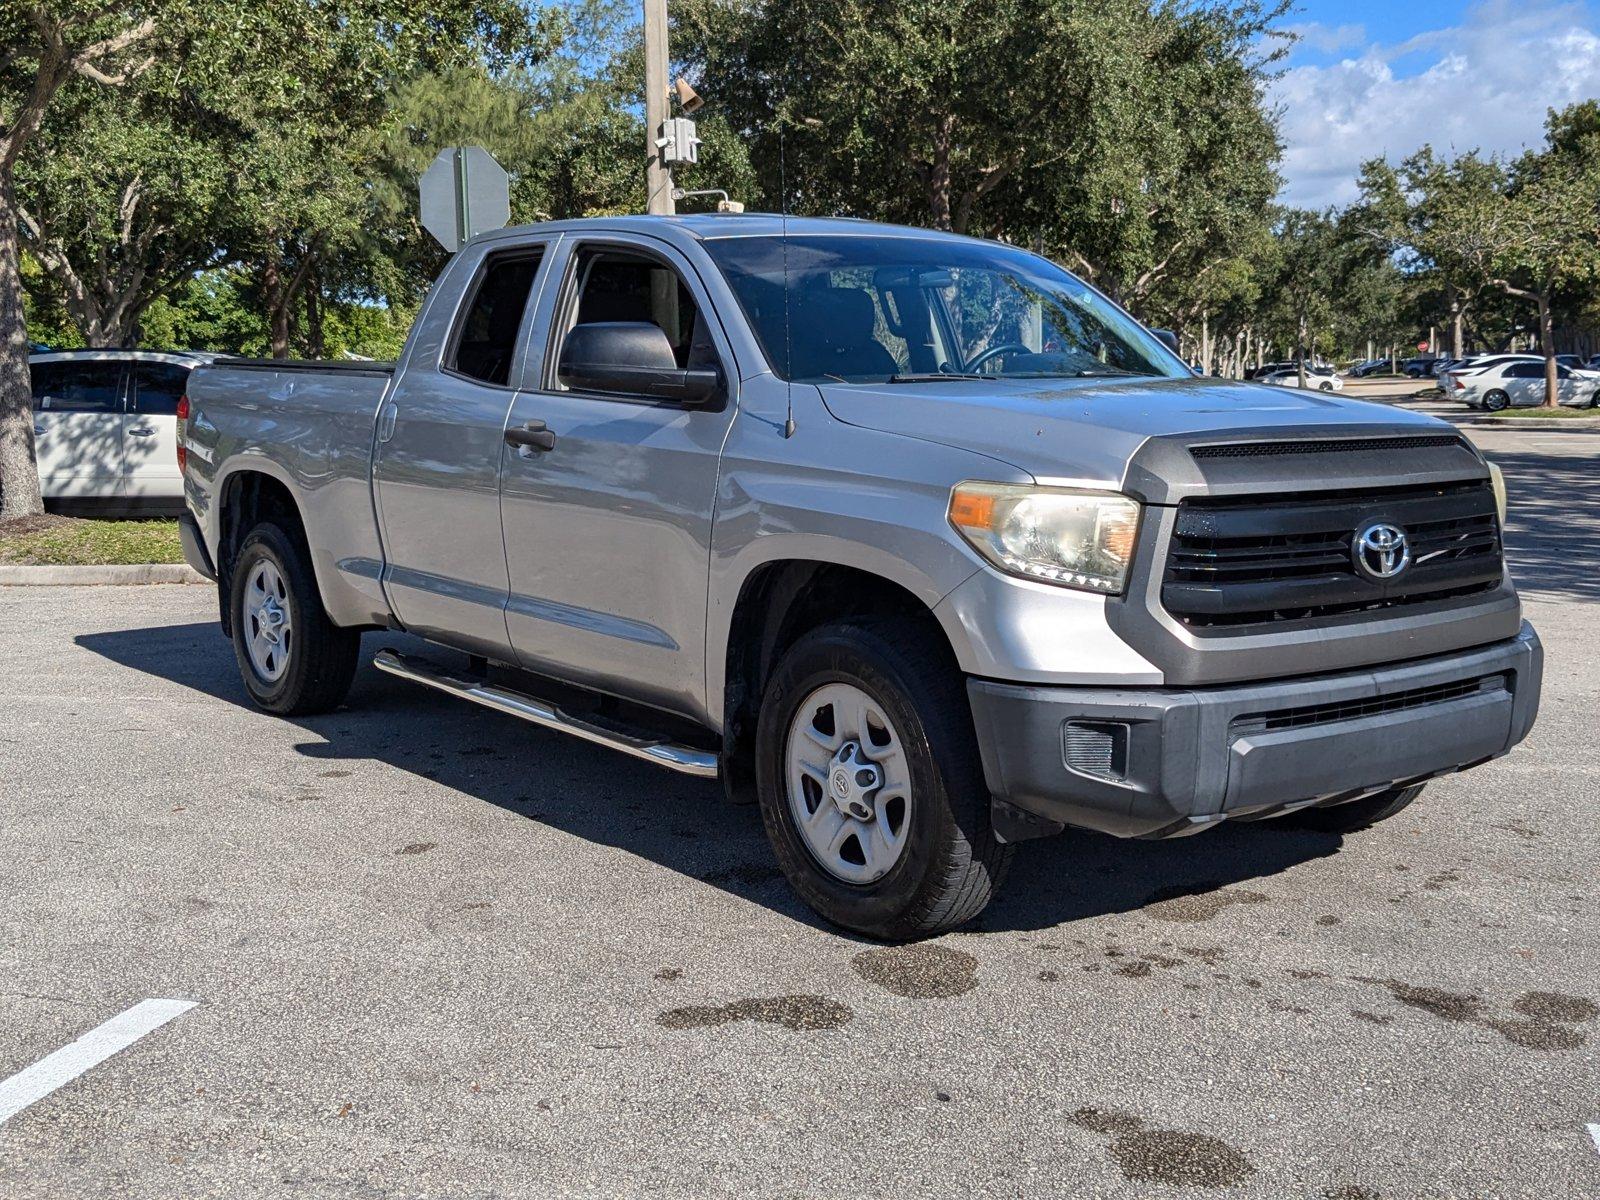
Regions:
<instances>
[{"instance_id":1,"label":"dark shadow cast on the pavement beneath the silver pickup","mask_svg":"<svg viewBox=\"0 0 1600 1200\"><path fill-rule=\"evenodd\" d=\"M232 645L213 624L86 634L77 645L256 712L238 682ZM334 794L341 778L370 763L397 768L838 933L790 891L754 806L730 805L717 784L674 776L382 675L370 659L384 645L448 654L395 634L363 638L368 666L357 674L349 702L293 722L312 734L294 752L322 768L318 778L326 782L320 790ZM414 805L414 795L403 803ZM1339 845L1333 835L1270 826L1224 827L1165 843L1069 830L1022 845L1000 898L966 931L1050 930L1150 904L1171 909L1174 899L1261 880L1334 854ZM1235 894L1254 898L1248 902L1266 899L1254 891L1229 893Z\"/></svg>"}]
</instances>

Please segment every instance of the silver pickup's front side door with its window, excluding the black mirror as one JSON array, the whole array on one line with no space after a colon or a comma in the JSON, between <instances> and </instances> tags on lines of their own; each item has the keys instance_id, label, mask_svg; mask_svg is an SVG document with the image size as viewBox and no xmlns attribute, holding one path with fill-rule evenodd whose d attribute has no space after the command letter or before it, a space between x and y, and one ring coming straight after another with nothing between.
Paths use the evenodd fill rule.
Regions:
<instances>
[{"instance_id":1,"label":"silver pickup's front side door with its window, excluding the black mirror","mask_svg":"<svg viewBox=\"0 0 1600 1200\"><path fill-rule=\"evenodd\" d=\"M542 422L546 448L504 450L506 624L530 670L701 715L706 587L722 443L738 373L691 264L654 238L563 240L562 288L510 427ZM557 379L582 323L651 322L678 366L720 366L720 403L685 406Z\"/></svg>"}]
</instances>

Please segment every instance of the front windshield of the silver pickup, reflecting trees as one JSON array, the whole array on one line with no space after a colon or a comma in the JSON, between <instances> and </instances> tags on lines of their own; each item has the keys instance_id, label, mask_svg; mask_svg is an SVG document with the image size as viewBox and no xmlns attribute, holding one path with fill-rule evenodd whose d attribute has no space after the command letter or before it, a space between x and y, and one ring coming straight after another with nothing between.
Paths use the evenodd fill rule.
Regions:
<instances>
[{"instance_id":1,"label":"front windshield of the silver pickup, reflecting trees","mask_svg":"<svg viewBox=\"0 0 1600 1200\"><path fill-rule=\"evenodd\" d=\"M1013 246L861 235L704 245L782 379L1190 374L1098 291Z\"/></svg>"}]
</instances>

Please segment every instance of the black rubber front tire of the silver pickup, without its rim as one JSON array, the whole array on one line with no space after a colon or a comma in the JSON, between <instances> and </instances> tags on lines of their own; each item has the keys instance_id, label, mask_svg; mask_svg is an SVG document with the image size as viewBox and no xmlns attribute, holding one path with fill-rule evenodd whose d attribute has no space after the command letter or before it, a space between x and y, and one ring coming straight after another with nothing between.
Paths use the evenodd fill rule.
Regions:
<instances>
[{"instance_id":1,"label":"black rubber front tire of the silver pickup, without its rim","mask_svg":"<svg viewBox=\"0 0 1600 1200\"><path fill-rule=\"evenodd\" d=\"M786 742L800 704L826 683L866 691L894 722L915 803L899 859L854 885L806 850L787 798ZM995 840L966 682L936 632L907 619L829 624L782 656L762 696L755 738L762 822L800 898L834 925L885 941L930 938L989 904L1013 848Z\"/></svg>"}]
</instances>

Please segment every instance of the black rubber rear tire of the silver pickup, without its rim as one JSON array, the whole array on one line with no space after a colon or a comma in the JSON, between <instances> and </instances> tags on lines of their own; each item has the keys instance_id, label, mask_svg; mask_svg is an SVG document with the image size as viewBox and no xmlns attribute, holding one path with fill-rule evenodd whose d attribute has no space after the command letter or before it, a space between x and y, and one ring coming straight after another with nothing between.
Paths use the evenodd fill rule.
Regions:
<instances>
[{"instance_id":1,"label":"black rubber rear tire of the silver pickup, without its rim","mask_svg":"<svg viewBox=\"0 0 1600 1200\"><path fill-rule=\"evenodd\" d=\"M285 605L294 638L288 645L288 666L272 680L250 659L250 614L245 611L251 571L269 560L285 582ZM299 538L274 522L253 528L234 560L229 613L234 622L234 658L245 680L245 691L258 707L280 717L309 717L336 709L350 691L362 650L355 629L341 629L328 619L317 590L310 555Z\"/></svg>"}]
</instances>

